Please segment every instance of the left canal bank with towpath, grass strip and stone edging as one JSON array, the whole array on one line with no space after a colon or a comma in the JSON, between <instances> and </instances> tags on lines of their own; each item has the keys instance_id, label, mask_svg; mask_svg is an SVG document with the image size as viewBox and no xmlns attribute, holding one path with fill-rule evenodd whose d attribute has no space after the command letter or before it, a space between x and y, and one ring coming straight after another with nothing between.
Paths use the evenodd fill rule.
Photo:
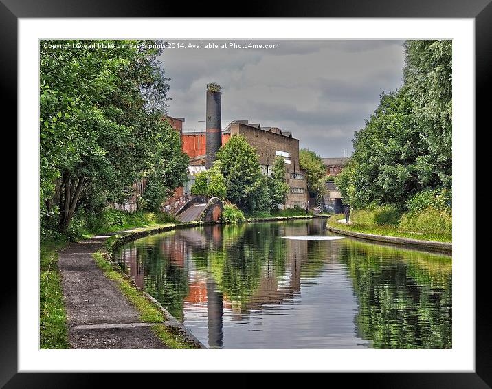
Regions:
<instances>
[{"instance_id":1,"label":"left canal bank with towpath, grass strip and stone edging","mask_svg":"<svg viewBox=\"0 0 492 389\"><path fill-rule=\"evenodd\" d=\"M273 219L283 221L319 217ZM261 219L249 219L247 223L257 221ZM207 224L210 223L190 222L125 230L119 234L102 234L70 243L61 250L58 253L58 269L67 312L69 346L205 348L155 298L138 289L133 280L114 265L112 253L120 245L143 236ZM154 312L146 315L149 310L152 311L150 307L153 307ZM161 312L161 319L155 313L156 308ZM148 320L149 317L151 320ZM174 344L166 343L166 339L172 340Z\"/></svg>"}]
</instances>

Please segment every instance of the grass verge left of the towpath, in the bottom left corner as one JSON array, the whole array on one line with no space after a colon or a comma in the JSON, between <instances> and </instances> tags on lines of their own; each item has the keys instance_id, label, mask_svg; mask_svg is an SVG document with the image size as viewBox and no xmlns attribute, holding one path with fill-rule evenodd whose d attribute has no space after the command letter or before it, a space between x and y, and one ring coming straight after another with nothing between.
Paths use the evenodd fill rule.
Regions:
<instances>
[{"instance_id":1,"label":"grass verge left of the towpath, in the bottom left corner","mask_svg":"<svg viewBox=\"0 0 492 389\"><path fill-rule=\"evenodd\" d=\"M40 348L69 348L67 315L58 270L58 250L66 241L41 242L39 271Z\"/></svg>"}]
</instances>

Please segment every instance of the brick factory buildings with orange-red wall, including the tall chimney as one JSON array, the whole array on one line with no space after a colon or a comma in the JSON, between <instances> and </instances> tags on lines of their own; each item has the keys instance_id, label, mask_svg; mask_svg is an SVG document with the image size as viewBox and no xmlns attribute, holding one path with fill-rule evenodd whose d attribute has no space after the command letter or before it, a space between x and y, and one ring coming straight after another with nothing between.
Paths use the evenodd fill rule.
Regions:
<instances>
[{"instance_id":1,"label":"brick factory buildings with orange-red wall, including the tall chimney","mask_svg":"<svg viewBox=\"0 0 492 389\"><path fill-rule=\"evenodd\" d=\"M192 199L191 186L197 173L212 167L219 148L226 144L233 135L242 135L246 142L256 148L262 173L271 175L276 157L284 159L286 182L290 191L287 194L285 207L309 204L306 173L299 166L299 140L292 137L290 131L282 131L278 127L262 127L260 124L249 123L248 120L234 120L224 130L221 124L221 92L220 86L214 83L207 85L205 131L183 132L184 118L164 116L170 125L181 135L183 152L190 157L188 182L176 188L175 193L162 204L162 210L177 214L183 205ZM133 195L125 204L115 204L115 208L137 209L137 196L145 190L145 181L134 185Z\"/></svg>"}]
</instances>

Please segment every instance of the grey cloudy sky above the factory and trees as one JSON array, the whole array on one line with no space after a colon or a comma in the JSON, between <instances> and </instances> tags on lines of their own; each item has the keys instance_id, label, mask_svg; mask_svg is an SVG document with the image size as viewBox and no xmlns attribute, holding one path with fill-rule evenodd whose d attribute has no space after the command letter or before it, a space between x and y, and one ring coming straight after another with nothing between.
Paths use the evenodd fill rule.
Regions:
<instances>
[{"instance_id":1,"label":"grey cloudy sky above the factory and trees","mask_svg":"<svg viewBox=\"0 0 492 389\"><path fill-rule=\"evenodd\" d=\"M205 88L222 86L222 127L232 120L292 131L322 157L350 155L354 131L383 91L401 86L403 41L168 41L159 58L171 78L168 113L185 131L205 129ZM216 43L218 49L189 48ZM278 45L240 49L230 43ZM221 47L227 45L227 49Z\"/></svg>"}]
</instances>

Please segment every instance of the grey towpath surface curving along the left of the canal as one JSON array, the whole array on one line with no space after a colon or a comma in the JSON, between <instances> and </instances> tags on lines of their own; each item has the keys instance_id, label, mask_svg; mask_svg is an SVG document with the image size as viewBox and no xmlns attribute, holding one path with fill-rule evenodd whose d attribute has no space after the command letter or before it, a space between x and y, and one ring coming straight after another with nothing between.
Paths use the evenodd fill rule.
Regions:
<instances>
[{"instance_id":1,"label":"grey towpath surface curving along the left of the canal","mask_svg":"<svg viewBox=\"0 0 492 389\"><path fill-rule=\"evenodd\" d=\"M71 348L166 348L93 260L107 238L71 243L58 256Z\"/></svg>"}]
</instances>

